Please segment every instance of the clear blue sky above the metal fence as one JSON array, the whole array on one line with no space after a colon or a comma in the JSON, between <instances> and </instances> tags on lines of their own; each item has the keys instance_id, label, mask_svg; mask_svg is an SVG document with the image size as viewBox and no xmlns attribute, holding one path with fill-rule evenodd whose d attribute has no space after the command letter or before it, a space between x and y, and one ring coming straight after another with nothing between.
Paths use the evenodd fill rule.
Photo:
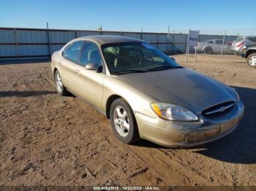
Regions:
<instances>
[{"instance_id":1,"label":"clear blue sky above the metal fence","mask_svg":"<svg viewBox=\"0 0 256 191\"><path fill-rule=\"evenodd\" d=\"M0 0L0 27L256 34L255 0Z\"/></svg>"}]
</instances>

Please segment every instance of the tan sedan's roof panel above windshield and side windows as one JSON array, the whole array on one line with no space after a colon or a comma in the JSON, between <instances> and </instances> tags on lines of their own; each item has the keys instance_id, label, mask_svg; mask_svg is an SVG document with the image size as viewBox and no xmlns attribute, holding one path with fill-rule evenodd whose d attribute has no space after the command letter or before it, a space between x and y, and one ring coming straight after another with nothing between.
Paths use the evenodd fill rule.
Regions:
<instances>
[{"instance_id":1,"label":"tan sedan's roof panel above windshield and side windows","mask_svg":"<svg viewBox=\"0 0 256 191\"><path fill-rule=\"evenodd\" d=\"M94 36L83 36L75 39L77 40L89 40L95 42L99 45L102 44L110 44L110 43L117 43L117 42L143 42L140 39L135 39L128 36L116 36L116 35L94 35Z\"/></svg>"}]
</instances>

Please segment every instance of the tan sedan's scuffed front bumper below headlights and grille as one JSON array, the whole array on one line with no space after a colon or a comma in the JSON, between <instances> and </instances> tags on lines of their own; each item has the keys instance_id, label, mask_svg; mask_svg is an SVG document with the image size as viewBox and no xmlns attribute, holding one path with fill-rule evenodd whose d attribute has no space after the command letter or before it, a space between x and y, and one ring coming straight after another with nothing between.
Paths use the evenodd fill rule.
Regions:
<instances>
[{"instance_id":1,"label":"tan sedan's scuffed front bumper below headlights and grille","mask_svg":"<svg viewBox=\"0 0 256 191\"><path fill-rule=\"evenodd\" d=\"M225 117L199 122L170 122L135 112L140 137L165 147L195 147L220 139L238 126L243 115L241 101Z\"/></svg>"}]
</instances>

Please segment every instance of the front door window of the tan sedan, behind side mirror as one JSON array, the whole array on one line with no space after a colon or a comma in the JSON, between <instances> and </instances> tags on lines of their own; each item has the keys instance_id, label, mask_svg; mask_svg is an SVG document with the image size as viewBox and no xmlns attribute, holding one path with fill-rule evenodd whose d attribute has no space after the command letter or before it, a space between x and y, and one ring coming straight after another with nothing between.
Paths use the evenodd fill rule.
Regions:
<instances>
[{"instance_id":1,"label":"front door window of the tan sedan, behind side mirror","mask_svg":"<svg viewBox=\"0 0 256 191\"><path fill-rule=\"evenodd\" d=\"M102 57L99 53L99 48L93 42L86 42L86 46L80 55L79 63L85 66L87 63L102 64Z\"/></svg>"}]
</instances>

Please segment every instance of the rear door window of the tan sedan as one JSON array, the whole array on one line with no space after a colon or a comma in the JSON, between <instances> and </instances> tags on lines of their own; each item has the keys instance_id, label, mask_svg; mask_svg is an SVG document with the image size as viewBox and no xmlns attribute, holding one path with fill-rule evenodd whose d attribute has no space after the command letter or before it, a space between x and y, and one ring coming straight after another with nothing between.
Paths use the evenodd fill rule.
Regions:
<instances>
[{"instance_id":1,"label":"rear door window of the tan sedan","mask_svg":"<svg viewBox=\"0 0 256 191\"><path fill-rule=\"evenodd\" d=\"M73 42L64 50L63 56L71 61L76 62L78 60L78 55L82 46L82 41Z\"/></svg>"}]
</instances>

